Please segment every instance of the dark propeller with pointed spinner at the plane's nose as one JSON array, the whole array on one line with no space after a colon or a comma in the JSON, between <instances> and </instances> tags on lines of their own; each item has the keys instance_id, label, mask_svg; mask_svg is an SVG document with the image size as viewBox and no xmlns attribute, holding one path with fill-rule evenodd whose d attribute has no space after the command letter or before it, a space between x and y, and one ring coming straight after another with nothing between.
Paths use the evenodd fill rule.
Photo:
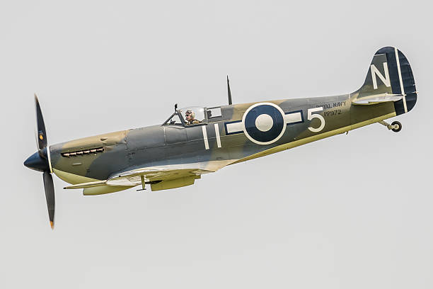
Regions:
<instances>
[{"instance_id":1,"label":"dark propeller with pointed spinner at the plane's nose","mask_svg":"<svg viewBox=\"0 0 433 289\"><path fill-rule=\"evenodd\" d=\"M36 123L37 123L37 152L32 154L25 160L24 165L35 171L43 172L45 198L47 199L48 216L50 217L51 228L54 229L54 183L52 181L50 169L50 152L47 150L47 132L45 131L44 118L42 118L42 111L40 110L39 101L35 94L35 108L36 108Z\"/></svg>"}]
</instances>

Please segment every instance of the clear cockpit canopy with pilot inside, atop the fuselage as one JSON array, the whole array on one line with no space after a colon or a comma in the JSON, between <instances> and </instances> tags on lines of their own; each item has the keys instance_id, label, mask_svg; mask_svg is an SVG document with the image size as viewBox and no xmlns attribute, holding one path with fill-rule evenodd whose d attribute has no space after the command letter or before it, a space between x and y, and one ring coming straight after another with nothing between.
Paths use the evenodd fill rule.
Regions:
<instances>
[{"instance_id":1,"label":"clear cockpit canopy with pilot inside, atop the fuselage","mask_svg":"<svg viewBox=\"0 0 433 289\"><path fill-rule=\"evenodd\" d=\"M201 106L188 106L177 109L164 125L199 125L207 120L221 117L221 108L203 108Z\"/></svg>"}]
</instances>

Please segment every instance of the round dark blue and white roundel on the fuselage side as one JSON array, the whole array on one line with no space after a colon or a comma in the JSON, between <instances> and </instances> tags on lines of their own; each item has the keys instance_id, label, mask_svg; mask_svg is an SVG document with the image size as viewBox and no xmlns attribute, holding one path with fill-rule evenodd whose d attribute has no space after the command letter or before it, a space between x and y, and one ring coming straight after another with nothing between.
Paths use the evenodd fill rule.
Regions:
<instances>
[{"instance_id":1,"label":"round dark blue and white roundel on the fuselage side","mask_svg":"<svg viewBox=\"0 0 433 289\"><path fill-rule=\"evenodd\" d=\"M284 134L284 111L274 103L256 103L243 114L243 132L251 142L269 145Z\"/></svg>"}]
</instances>

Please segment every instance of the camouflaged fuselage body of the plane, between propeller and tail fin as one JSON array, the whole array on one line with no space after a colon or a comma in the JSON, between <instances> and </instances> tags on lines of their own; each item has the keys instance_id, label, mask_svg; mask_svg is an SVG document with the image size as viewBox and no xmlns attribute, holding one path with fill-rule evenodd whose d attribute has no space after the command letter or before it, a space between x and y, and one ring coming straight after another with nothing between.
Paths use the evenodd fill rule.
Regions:
<instances>
[{"instance_id":1,"label":"camouflaged fuselage body of the plane, between propeller and tail fin","mask_svg":"<svg viewBox=\"0 0 433 289\"><path fill-rule=\"evenodd\" d=\"M281 116L278 109L272 111L273 106L284 113L284 132L281 131ZM262 157L396 115L392 102L354 106L350 94L220 108L220 117L197 125L152 125L51 145L52 171L73 184L105 180L122 171L148 166L195 164L216 171L228 164ZM248 108L248 115L256 120L253 125L246 118ZM265 110L262 114L275 113L276 118L263 118L260 126L260 122L257 123L260 110ZM250 130L248 125L258 125L261 130Z\"/></svg>"}]
</instances>

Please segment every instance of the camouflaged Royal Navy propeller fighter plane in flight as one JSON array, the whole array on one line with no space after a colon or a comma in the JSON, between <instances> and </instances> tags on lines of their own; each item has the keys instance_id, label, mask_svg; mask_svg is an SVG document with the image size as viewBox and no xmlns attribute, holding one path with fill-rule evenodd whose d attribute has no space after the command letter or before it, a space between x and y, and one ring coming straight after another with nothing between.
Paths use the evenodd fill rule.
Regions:
<instances>
[{"instance_id":1,"label":"camouflaged Royal Navy propeller fighter plane in flight","mask_svg":"<svg viewBox=\"0 0 433 289\"><path fill-rule=\"evenodd\" d=\"M400 50L376 52L364 84L351 94L256 103L175 109L163 123L47 145L47 132L35 96L37 152L24 165L42 171L50 224L54 226L52 173L82 188L85 196L140 186L151 191L192 185L249 159L381 123L398 132L398 121L384 120L410 111L417 91L410 64ZM241 176L242 178L242 176ZM248 179L248 176L243 176Z\"/></svg>"}]
</instances>

